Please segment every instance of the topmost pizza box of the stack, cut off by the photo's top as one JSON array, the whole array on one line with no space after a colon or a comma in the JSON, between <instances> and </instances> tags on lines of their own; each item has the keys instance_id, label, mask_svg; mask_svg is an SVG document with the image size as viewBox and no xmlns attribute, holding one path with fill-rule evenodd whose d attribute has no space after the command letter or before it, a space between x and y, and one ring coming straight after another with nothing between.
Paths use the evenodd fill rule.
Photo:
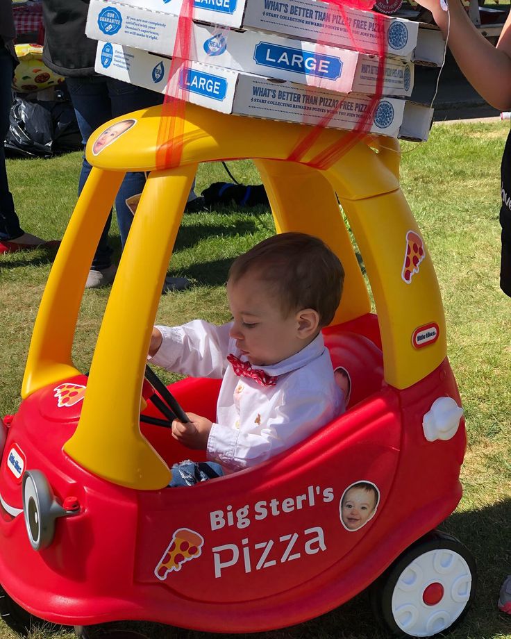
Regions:
<instances>
[{"instance_id":1,"label":"topmost pizza box of the stack, cut off by the photo's top","mask_svg":"<svg viewBox=\"0 0 511 639\"><path fill-rule=\"evenodd\" d=\"M173 15L179 15L183 5L183 0L122 1ZM380 15L380 26L372 11L345 7L343 15L332 4L317 0L195 0L193 15L199 22L319 40L365 53L378 53L378 29L383 27L389 55L435 66L444 60L444 38L434 26L389 15Z\"/></svg>"}]
</instances>

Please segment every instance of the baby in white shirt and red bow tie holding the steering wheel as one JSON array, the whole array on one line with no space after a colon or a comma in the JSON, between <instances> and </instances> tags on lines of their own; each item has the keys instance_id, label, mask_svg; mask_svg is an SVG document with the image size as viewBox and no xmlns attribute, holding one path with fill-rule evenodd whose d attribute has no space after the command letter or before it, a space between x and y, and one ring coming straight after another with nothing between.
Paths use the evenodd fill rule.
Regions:
<instances>
[{"instance_id":1,"label":"baby in white shirt and red bow tie holding the steering wheel","mask_svg":"<svg viewBox=\"0 0 511 639\"><path fill-rule=\"evenodd\" d=\"M344 412L343 389L321 335L339 306L343 280L340 260L324 242L282 233L233 262L227 282L232 322L155 326L153 364L223 378L215 422L187 413L190 422L172 424L176 440L206 449L212 463L174 466L171 486L261 463Z\"/></svg>"}]
</instances>

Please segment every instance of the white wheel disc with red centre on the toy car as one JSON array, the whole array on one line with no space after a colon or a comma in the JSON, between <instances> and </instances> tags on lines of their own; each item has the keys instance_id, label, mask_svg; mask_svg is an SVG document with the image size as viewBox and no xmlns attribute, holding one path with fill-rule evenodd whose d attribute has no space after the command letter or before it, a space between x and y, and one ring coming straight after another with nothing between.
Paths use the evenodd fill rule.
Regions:
<instances>
[{"instance_id":1,"label":"white wheel disc with red centre on the toy car","mask_svg":"<svg viewBox=\"0 0 511 639\"><path fill-rule=\"evenodd\" d=\"M439 548L414 558L392 591L392 616L401 631L430 637L448 629L471 595L472 574L458 552Z\"/></svg>"}]
</instances>

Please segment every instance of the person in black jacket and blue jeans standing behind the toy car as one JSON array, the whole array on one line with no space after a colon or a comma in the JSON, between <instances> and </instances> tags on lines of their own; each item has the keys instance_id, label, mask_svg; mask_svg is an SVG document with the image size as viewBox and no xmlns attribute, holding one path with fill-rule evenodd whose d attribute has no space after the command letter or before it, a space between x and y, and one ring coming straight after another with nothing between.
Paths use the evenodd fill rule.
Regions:
<instances>
[{"instance_id":1,"label":"person in black jacket and blue jeans standing behind the toy car","mask_svg":"<svg viewBox=\"0 0 511 639\"><path fill-rule=\"evenodd\" d=\"M43 61L66 78L84 145L93 131L113 117L162 102L162 96L156 92L94 72L97 42L85 35L88 8L89 0L43 0L42 3L45 28ZM84 155L78 194L91 168ZM127 173L115 199L123 247L133 221L133 213L126 201L140 194L144 183L144 173ZM196 197L193 191L190 199L192 197ZM114 279L116 267L112 265L112 249L108 245L110 222L111 213L92 261L87 288L99 288ZM184 277L167 277L164 292L186 288L187 285L189 282Z\"/></svg>"}]
</instances>

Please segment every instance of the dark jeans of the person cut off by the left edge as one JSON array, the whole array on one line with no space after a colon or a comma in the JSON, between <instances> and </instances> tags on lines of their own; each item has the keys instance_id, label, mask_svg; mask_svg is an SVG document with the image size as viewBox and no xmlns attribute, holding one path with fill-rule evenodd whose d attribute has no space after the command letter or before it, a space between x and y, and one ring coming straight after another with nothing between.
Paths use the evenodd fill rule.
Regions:
<instances>
[{"instance_id":1,"label":"dark jeans of the person cut off by the left edge","mask_svg":"<svg viewBox=\"0 0 511 639\"><path fill-rule=\"evenodd\" d=\"M9 190L6 170L6 153L3 140L9 130L9 114L12 105L12 74L15 61L0 40L0 240L15 240L23 235L14 201Z\"/></svg>"}]
</instances>

